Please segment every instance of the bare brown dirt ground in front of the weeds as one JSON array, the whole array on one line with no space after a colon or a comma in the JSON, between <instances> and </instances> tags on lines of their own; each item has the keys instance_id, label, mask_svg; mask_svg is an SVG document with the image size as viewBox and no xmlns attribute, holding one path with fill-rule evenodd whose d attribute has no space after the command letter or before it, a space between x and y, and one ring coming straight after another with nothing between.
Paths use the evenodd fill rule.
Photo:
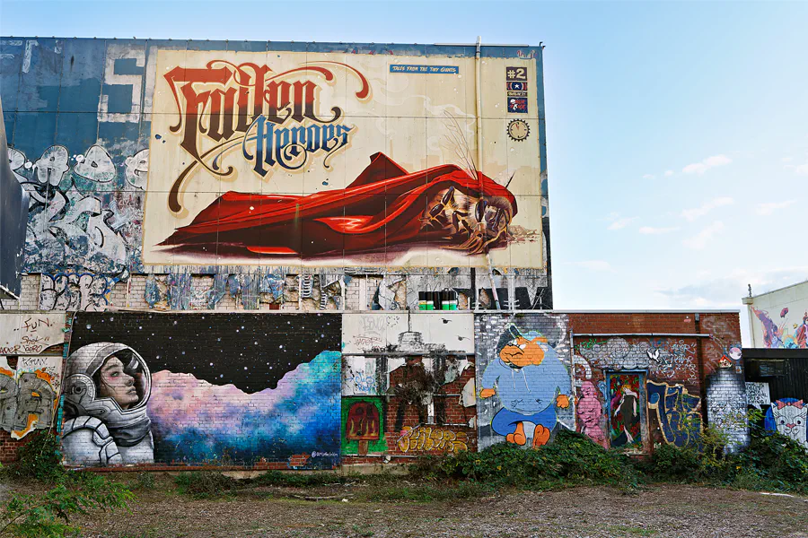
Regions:
<instances>
[{"instance_id":1,"label":"bare brown dirt ground in front of the weeds","mask_svg":"<svg viewBox=\"0 0 808 538\"><path fill-rule=\"evenodd\" d=\"M83 536L120 538L808 537L808 499L751 491L653 485L636 495L589 487L440 502L373 502L357 500L373 499L362 494L362 487L262 488L224 499L191 499L161 488L138 490L131 514L95 514L80 523Z\"/></svg>"}]
</instances>

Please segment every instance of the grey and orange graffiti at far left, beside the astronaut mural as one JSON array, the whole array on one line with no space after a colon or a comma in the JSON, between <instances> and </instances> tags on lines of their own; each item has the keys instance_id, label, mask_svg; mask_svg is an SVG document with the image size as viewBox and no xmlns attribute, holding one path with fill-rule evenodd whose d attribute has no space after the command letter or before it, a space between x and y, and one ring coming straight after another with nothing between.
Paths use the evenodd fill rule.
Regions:
<instances>
[{"instance_id":1,"label":"grey and orange graffiti at far left, beside the astronaut mural","mask_svg":"<svg viewBox=\"0 0 808 538\"><path fill-rule=\"evenodd\" d=\"M61 357L0 357L0 428L19 439L53 426L61 369Z\"/></svg>"}]
</instances>

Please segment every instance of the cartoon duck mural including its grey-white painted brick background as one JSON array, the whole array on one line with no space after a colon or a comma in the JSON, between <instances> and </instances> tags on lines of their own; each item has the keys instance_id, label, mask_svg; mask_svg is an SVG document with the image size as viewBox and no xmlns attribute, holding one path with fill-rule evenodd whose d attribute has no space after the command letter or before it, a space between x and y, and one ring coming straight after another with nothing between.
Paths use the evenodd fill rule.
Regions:
<instances>
[{"instance_id":1,"label":"cartoon duck mural including its grey-white painted brick background","mask_svg":"<svg viewBox=\"0 0 808 538\"><path fill-rule=\"evenodd\" d=\"M527 324L494 316L481 321L504 326L494 334L486 326L478 338L491 342L476 342L480 448L502 441L541 447L559 429L574 429L572 379L562 360L568 357L563 320L532 316L538 318Z\"/></svg>"}]
</instances>

